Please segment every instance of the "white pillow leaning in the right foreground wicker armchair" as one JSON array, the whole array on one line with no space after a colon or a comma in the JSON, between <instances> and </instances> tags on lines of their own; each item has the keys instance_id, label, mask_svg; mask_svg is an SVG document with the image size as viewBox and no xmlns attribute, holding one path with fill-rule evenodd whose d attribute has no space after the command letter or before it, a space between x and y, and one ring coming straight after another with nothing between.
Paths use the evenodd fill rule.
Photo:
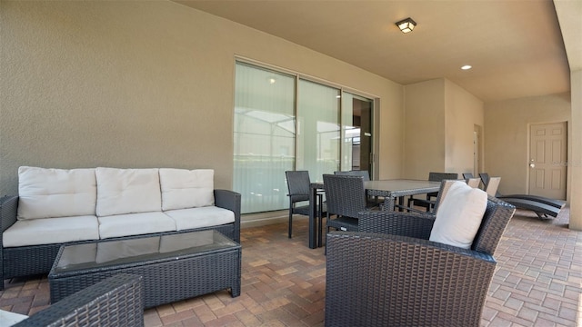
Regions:
<instances>
[{"instance_id":1,"label":"white pillow leaning in the right foreground wicker armchair","mask_svg":"<svg viewBox=\"0 0 582 327\"><path fill-rule=\"evenodd\" d=\"M465 182L448 189L437 211L429 241L469 249L487 209L487 193Z\"/></svg>"}]
</instances>

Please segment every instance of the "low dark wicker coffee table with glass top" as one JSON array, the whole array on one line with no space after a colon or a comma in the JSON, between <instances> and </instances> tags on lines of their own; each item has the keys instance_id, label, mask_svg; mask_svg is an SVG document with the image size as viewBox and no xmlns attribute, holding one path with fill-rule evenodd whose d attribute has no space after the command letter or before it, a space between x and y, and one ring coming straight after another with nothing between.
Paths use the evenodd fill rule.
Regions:
<instances>
[{"instance_id":1,"label":"low dark wicker coffee table with glass top","mask_svg":"<svg viewBox=\"0 0 582 327\"><path fill-rule=\"evenodd\" d=\"M241 246L214 230L65 244L48 274L51 302L119 272L144 277L146 308L224 289L236 297Z\"/></svg>"}]
</instances>

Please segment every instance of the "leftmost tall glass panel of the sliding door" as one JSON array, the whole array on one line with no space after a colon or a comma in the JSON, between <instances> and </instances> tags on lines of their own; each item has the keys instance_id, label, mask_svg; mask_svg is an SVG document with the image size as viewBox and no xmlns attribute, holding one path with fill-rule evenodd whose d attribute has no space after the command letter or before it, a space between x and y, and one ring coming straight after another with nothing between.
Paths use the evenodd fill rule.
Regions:
<instances>
[{"instance_id":1,"label":"leftmost tall glass panel of the sliding door","mask_svg":"<svg viewBox=\"0 0 582 327\"><path fill-rule=\"evenodd\" d=\"M236 64L233 190L241 212L288 206L285 171L295 163L295 76Z\"/></svg>"}]
</instances>

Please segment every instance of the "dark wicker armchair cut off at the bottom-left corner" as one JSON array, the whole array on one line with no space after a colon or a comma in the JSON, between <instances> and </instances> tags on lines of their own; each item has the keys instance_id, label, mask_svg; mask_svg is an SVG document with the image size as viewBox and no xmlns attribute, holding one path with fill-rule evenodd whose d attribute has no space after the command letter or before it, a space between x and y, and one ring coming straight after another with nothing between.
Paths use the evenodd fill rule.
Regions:
<instances>
[{"instance_id":1,"label":"dark wicker armchair cut off at the bottom-left corner","mask_svg":"<svg viewBox=\"0 0 582 327\"><path fill-rule=\"evenodd\" d=\"M53 303L14 326L144 326L142 277L117 274Z\"/></svg>"}]
</instances>

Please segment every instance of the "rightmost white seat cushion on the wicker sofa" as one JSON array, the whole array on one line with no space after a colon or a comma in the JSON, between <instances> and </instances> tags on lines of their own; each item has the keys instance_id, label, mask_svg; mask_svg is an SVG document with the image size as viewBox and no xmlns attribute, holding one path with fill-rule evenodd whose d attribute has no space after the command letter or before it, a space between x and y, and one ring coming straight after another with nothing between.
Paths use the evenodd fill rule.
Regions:
<instances>
[{"instance_id":1,"label":"rightmost white seat cushion on the wicker sofa","mask_svg":"<svg viewBox=\"0 0 582 327\"><path fill-rule=\"evenodd\" d=\"M164 213L176 221L178 231L217 226L235 221L235 213L216 206L170 210Z\"/></svg>"}]
</instances>

